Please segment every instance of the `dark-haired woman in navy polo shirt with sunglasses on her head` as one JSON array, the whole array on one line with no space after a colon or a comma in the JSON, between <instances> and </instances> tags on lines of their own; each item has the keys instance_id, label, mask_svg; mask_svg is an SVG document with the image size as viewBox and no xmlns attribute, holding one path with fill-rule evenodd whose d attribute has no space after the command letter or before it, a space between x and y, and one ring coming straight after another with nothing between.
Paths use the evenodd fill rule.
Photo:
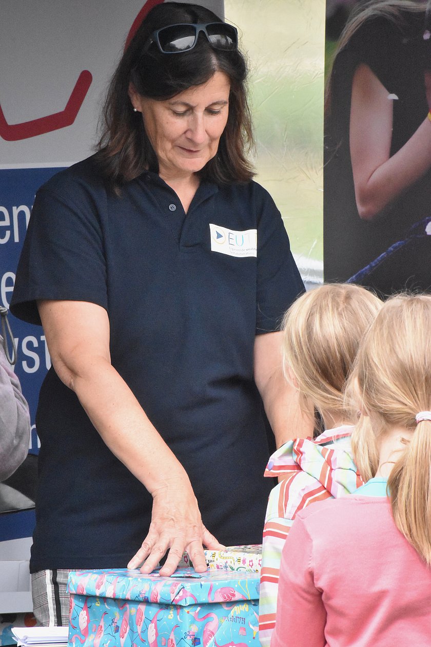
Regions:
<instances>
[{"instance_id":1,"label":"dark-haired woman in navy polo shirt with sunglasses on her head","mask_svg":"<svg viewBox=\"0 0 431 647\"><path fill-rule=\"evenodd\" d=\"M98 153L37 193L11 309L42 323L52 358L30 564L44 624L67 619L69 569L149 573L169 551L171 575L186 550L204 571L203 545L262 540L264 411L277 444L296 435L278 331L303 285L251 181L245 82L234 27L157 5Z\"/></svg>"}]
</instances>

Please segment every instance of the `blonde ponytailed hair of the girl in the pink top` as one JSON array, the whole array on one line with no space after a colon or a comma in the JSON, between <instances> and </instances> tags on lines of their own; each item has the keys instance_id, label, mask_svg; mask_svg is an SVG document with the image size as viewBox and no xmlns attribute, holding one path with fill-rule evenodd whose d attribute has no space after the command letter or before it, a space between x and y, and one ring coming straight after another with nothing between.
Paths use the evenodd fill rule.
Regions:
<instances>
[{"instance_id":1,"label":"blonde ponytailed hair of the girl in the pink top","mask_svg":"<svg viewBox=\"0 0 431 647\"><path fill-rule=\"evenodd\" d=\"M431 296L397 295L377 314L359 349L349 392L356 391L365 421L353 433L355 461L363 477L375 475L379 436L400 428L413 432L394 464L388 491L395 525L431 565ZM357 401L355 401L357 406Z\"/></svg>"}]
</instances>

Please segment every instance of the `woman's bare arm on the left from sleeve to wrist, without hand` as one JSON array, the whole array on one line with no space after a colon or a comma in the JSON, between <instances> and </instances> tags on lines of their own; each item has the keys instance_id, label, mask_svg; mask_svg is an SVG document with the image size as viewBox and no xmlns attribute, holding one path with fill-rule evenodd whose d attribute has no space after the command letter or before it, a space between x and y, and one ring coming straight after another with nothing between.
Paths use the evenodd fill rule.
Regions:
<instances>
[{"instance_id":1,"label":"woman's bare arm on the left from sleeve to wrist, without hand","mask_svg":"<svg viewBox=\"0 0 431 647\"><path fill-rule=\"evenodd\" d=\"M38 303L52 365L111 452L153 493L184 468L110 362L109 319L94 303Z\"/></svg>"}]
</instances>

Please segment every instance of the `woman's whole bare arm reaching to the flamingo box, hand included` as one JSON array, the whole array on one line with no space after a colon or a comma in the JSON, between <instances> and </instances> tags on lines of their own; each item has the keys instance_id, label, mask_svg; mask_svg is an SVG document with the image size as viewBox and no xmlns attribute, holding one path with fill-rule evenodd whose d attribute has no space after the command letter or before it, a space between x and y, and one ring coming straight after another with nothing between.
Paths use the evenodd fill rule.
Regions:
<instances>
[{"instance_id":1,"label":"woman's whole bare arm reaching to the flamingo box, hand included","mask_svg":"<svg viewBox=\"0 0 431 647\"><path fill-rule=\"evenodd\" d=\"M203 546L222 549L202 524L184 467L163 441L138 400L110 363L109 318L89 302L38 303L52 365L78 396L112 454L152 494L152 521L129 566L150 573L169 550L162 575L171 575L184 551L205 571Z\"/></svg>"}]
</instances>

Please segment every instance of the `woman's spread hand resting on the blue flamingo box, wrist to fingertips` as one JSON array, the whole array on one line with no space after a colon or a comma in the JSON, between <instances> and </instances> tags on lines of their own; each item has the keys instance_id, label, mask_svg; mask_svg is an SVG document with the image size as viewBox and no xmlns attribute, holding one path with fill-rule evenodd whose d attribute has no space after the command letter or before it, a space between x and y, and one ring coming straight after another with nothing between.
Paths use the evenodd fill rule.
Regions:
<instances>
[{"instance_id":1,"label":"woman's spread hand resting on the blue flamingo box, wrist to fingertips","mask_svg":"<svg viewBox=\"0 0 431 647\"><path fill-rule=\"evenodd\" d=\"M127 567L138 568L142 564L141 573L151 573L169 551L160 569L160 575L169 576L186 551L194 570L197 573L206 571L204 546L213 550L225 547L202 523L198 502L187 476L169 479L152 492L152 498L149 532Z\"/></svg>"}]
</instances>

